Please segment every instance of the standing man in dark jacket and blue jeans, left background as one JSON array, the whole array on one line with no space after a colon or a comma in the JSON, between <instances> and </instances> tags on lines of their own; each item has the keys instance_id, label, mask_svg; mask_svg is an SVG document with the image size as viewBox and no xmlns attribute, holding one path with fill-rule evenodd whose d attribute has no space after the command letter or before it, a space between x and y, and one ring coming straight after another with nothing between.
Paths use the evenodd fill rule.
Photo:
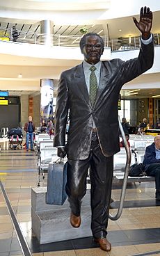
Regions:
<instances>
[{"instance_id":1,"label":"standing man in dark jacket and blue jeans, left background","mask_svg":"<svg viewBox=\"0 0 160 256\"><path fill-rule=\"evenodd\" d=\"M26 131L26 151L29 151L29 140L31 142L31 151L33 151L33 133L35 131L35 125L31 116L29 116L29 122L26 122L24 125L24 131Z\"/></svg>"}]
</instances>

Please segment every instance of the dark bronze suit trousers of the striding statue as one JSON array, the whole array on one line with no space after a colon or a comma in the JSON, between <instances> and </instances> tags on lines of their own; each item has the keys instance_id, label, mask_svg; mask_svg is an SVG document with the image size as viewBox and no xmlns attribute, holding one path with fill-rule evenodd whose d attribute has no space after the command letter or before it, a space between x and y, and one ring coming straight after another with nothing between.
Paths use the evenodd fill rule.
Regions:
<instances>
[{"instance_id":1,"label":"dark bronze suit trousers of the striding statue","mask_svg":"<svg viewBox=\"0 0 160 256\"><path fill-rule=\"evenodd\" d=\"M66 192L74 215L81 214L81 200L86 194L86 178L90 168L91 230L93 237L106 237L113 179L113 156L105 157L96 133L92 133L90 155L85 160L68 159Z\"/></svg>"}]
</instances>

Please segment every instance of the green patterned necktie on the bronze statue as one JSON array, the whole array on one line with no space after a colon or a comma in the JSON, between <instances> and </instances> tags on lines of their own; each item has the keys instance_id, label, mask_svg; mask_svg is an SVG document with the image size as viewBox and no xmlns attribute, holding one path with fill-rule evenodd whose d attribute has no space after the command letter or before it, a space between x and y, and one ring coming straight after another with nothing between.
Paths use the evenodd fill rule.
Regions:
<instances>
[{"instance_id":1,"label":"green patterned necktie on the bronze statue","mask_svg":"<svg viewBox=\"0 0 160 256\"><path fill-rule=\"evenodd\" d=\"M95 104L95 97L97 93L97 77L95 75L95 70L95 66L90 67L90 102L93 106Z\"/></svg>"}]
</instances>

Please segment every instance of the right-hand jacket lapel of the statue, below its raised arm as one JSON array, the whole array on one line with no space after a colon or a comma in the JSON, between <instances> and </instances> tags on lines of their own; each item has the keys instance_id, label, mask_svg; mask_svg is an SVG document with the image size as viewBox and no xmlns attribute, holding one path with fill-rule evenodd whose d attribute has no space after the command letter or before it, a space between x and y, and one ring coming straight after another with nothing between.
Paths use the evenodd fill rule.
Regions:
<instances>
[{"instance_id":1,"label":"right-hand jacket lapel of the statue, below its raised arm","mask_svg":"<svg viewBox=\"0 0 160 256\"><path fill-rule=\"evenodd\" d=\"M99 86L97 89L97 95L95 99L95 105L98 103L99 97L102 95L104 88L106 88L108 81L109 81L109 70L104 66L104 63L102 62Z\"/></svg>"}]
</instances>

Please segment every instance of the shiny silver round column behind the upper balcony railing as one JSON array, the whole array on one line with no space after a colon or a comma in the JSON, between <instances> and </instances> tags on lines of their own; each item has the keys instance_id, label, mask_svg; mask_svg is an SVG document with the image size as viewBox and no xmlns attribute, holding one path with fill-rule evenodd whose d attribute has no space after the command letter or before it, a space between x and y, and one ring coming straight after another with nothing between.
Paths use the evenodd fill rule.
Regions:
<instances>
[{"instance_id":1,"label":"shiny silver round column behind the upper balcony railing","mask_svg":"<svg viewBox=\"0 0 160 256\"><path fill-rule=\"evenodd\" d=\"M53 45L54 22L42 20L40 22L41 42L43 45Z\"/></svg>"}]
</instances>

